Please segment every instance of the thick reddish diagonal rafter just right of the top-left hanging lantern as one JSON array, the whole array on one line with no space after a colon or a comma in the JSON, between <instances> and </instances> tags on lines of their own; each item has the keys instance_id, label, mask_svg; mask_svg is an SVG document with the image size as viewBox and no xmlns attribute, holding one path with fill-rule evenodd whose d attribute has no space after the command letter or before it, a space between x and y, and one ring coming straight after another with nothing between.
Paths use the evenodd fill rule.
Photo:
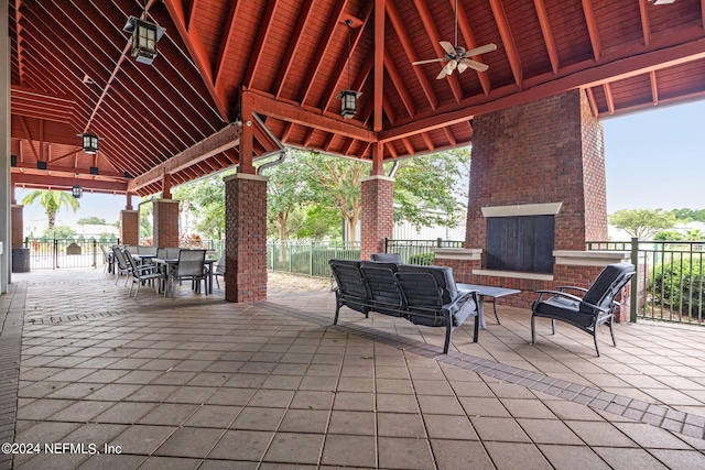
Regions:
<instances>
[{"instance_id":1,"label":"thick reddish diagonal rafter just right of the top-left hanging lantern","mask_svg":"<svg viewBox=\"0 0 705 470\"><path fill-rule=\"evenodd\" d=\"M185 19L185 9L182 4L181 0L163 0L164 6L166 7L166 11L171 17L174 25L176 26L176 31L181 36L181 40L186 45L188 50L188 54L191 55L192 61L198 68L200 73L200 77L203 79L203 84L206 86L213 102L215 103L220 118L225 122L229 122L229 109L228 109L228 100L227 97L221 96L216 91L215 86L213 85L213 68L210 66L210 61L205 54L205 47L203 42L198 37L198 33L195 29L191 31L186 30L186 19Z\"/></svg>"}]
</instances>

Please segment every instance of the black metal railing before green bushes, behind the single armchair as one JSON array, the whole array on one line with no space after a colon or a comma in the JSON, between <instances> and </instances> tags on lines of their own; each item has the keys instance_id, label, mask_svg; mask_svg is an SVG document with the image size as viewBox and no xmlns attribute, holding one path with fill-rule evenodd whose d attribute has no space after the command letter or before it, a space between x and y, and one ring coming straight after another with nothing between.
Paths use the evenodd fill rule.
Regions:
<instances>
[{"instance_id":1,"label":"black metal railing before green bushes, behind the single armchair","mask_svg":"<svg viewBox=\"0 0 705 470\"><path fill-rule=\"evenodd\" d=\"M705 242L588 242L588 250L628 251L637 266L631 320L705 325Z\"/></svg>"}]
</instances>

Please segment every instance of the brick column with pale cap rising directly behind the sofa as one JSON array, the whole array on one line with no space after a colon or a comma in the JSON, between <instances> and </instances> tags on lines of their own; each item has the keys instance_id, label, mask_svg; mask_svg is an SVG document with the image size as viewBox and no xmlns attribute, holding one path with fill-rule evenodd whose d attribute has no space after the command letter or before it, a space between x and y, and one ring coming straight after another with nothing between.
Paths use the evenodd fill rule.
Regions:
<instances>
[{"instance_id":1,"label":"brick column with pale cap rising directly behind the sofa","mask_svg":"<svg viewBox=\"0 0 705 470\"><path fill-rule=\"evenodd\" d=\"M394 229L394 178L375 175L361 179L362 217L360 259L369 260L372 253L384 252L384 238L391 238Z\"/></svg>"}]
</instances>

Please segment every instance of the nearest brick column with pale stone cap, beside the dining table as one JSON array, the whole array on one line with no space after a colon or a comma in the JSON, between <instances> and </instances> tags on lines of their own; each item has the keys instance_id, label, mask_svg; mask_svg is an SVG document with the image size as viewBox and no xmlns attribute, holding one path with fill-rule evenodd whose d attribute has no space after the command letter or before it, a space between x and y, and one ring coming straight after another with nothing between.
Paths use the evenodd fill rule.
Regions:
<instances>
[{"instance_id":1,"label":"nearest brick column with pale stone cap, beside the dining table","mask_svg":"<svg viewBox=\"0 0 705 470\"><path fill-rule=\"evenodd\" d=\"M225 299L267 298L267 177L237 173L225 181Z\"/></svg>"}]
</instances>

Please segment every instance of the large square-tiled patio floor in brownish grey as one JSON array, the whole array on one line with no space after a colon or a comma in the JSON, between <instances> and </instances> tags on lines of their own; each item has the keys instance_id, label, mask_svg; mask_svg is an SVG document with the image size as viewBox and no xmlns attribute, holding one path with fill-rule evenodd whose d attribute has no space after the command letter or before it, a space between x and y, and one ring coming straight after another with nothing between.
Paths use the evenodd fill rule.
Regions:
<instances>
[{"instance_id":1,"label":"large square-tiled patio floor in brownish grey","mask_svg":"<svg viewBox=\"0 0 705 470\"><path fill-rule=\"evenodd\" d=\"M296 284L135 302L99 270L14 274L0 440L41 451L0 468L705 468L698 328L617 325L597 358L547 321L530 345L529 313L499 306L446 356L440 329L345 308L332 326L326 283Z\"/></svg>"}]
</instances>

